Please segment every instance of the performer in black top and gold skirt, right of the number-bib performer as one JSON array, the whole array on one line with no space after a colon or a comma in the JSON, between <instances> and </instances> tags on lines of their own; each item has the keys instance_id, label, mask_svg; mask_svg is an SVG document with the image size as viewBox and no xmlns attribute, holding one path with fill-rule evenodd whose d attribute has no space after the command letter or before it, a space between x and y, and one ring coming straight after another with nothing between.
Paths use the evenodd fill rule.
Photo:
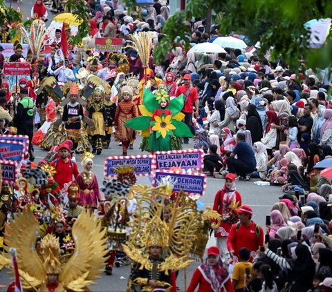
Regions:
<instances>
[{"instance_id":1,"label":"performer in black top and gold skirt, right of the number-bib performer","mask_svg":"<svg viewBox=\"0 0 332 292\"><path fill-rule=\"evenodd\" d=\"M102 140L105 136L105 128L107 127L107 115L102 101L102 91L96 88L93 92L94 101L89 106L89 118L95 123L95 129L88 128L89 135L92 136L92 153L97 151L97 155L102 153Z\"/></svg>"}]
</instances>

